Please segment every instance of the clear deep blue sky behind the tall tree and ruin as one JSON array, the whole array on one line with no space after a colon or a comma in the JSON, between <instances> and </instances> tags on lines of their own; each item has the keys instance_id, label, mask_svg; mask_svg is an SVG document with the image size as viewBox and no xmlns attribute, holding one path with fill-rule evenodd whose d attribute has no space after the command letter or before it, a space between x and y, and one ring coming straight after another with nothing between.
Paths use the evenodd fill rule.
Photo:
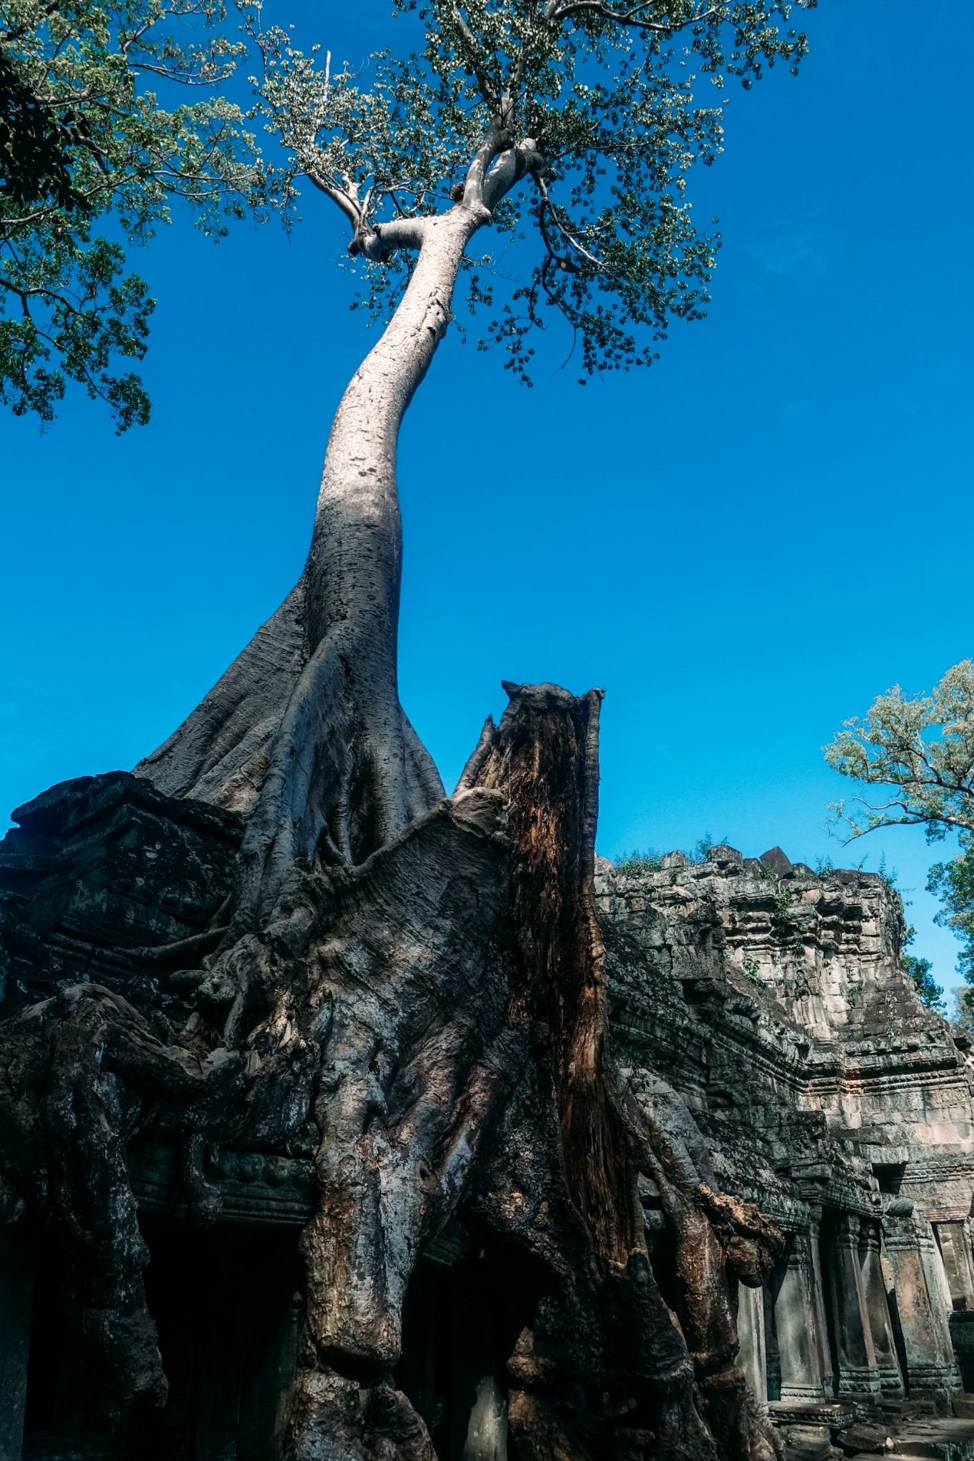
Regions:
<instances>
[{"instance_id":1,"label":"clear deep blue sky behind the tall tree and ruin","mask_svg":"<svg viewBox=\"0 0 974 1461\"><path fill-rule=\"evenodd\" d=\"M403 25L387 0L275 9L353 64ZM797 80L730 92L691 184L724 235L713 305L650 371L581 389L552 340L524 390L441 346L400 450L402 698L450 786L502 678L605 687L606 856L702 833L885 852L952 983L921 833L843 852L821 747L974 652L974 6L821 0L803 23ZM339 219L305 202L291 238L215 245L177 218L136 257L159 300L147 428L118 440L77 394L45 435L0 419L3 811L158 745L301 571L369 345Z\"/></svg>"}]
</instances>

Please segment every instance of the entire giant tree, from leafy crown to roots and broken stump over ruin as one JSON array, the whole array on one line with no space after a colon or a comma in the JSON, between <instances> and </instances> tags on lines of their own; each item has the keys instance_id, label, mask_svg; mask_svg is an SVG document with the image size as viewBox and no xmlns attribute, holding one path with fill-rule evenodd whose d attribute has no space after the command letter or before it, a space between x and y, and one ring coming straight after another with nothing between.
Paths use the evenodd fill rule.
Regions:
<instances>
[{"instance_id":1,"label":"entire giant tree, from leafy crown to roots and broken stump over ruin","mask_svg":"<svg viewBox=\"0 0 974 1461\"><path fill-rule=\"evenodd\" d=\"M584 1384L635 1404L634 1455L770 1461L778 1442L735 1366L729 1275L761 1283L781 1237L720 1194L682 1103L640 1105L609 1058L593 899L602 697L508 685L508 712L444 798L399 701L396 451L461 276L489 311L483 342L523 377L551 320L591 374L648 362L672 317L701 313L716 240L695 231L683 187L720 149L720 110L695 104L689 67L748 86L765 64L794 69L805 37L781 31L791 6L775 0L437 0L419 10L423 50L375 57L362 89L264 31L258 4L239 10L261 61L254 115L286 149L282 205L304 180L339 209L386 327L337 409L299 583L136 768L164 799L245 818L210 934L168 951L213 953L152 1011L134 985L121 1002L79 985L6 1030L7 1182L47 1204L70 1252L76 1214L99 1218L69 1270L118 1411L165 1392L131 1132L155 1122L184 1141L206 1213L203 1143L311 1128L320 1211L302 1237L289 1461L431 1455L390 1370L418 1255L459 1207L523 1256L540 1294L510 1360L524 1455L588 1454L556 1404ZM475 240L529 228L527 282L491 310ZM472 403L454 446L464 487L485 432ZM51 1071L73 1124L42 1100ZM675 1235L683 1337L647 1262L640 1173Z\"/></svg>"}]
</instances>

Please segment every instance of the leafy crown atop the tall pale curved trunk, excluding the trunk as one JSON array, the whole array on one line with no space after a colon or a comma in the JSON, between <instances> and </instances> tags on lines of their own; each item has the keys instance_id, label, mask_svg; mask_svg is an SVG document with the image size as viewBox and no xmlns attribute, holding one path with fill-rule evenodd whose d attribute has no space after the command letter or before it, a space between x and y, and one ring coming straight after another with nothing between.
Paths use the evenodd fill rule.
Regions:
<instances>
[{"instance_id":1,"label":"leafy crown atop the tall pale curved trunk, excluding the trunk","mask_svg":"<svg viewBox=\"0 0 974 1461\"><path fill-rule=\"evenodd\" d=\"M318 47L302 53L288 31L263 29L260 0L238 0L263 56L257 110L291 155L289 197L307 178L346 213L362 304L386 318L410 269L407 254L364 248L362 234L451 206L494 139L529 161L494 210L498 247L466 262L470 310L488 314L480 348L501 346L530 384L534 332L561 318L583 383L648 364L670 318L701 316L718 245L685 199L691 167L711 164L723 139L720 107L695 101L695 72L720 89L778 61L794 70L806 38L789 19L816 0L394 3L418 12L425 45L372 57L359 85L330 56L323 67ZM529 240L529 257L523 267L520 244L508 256L520 282L498 301L511 238Z\"/></svg>"}]
</instances>

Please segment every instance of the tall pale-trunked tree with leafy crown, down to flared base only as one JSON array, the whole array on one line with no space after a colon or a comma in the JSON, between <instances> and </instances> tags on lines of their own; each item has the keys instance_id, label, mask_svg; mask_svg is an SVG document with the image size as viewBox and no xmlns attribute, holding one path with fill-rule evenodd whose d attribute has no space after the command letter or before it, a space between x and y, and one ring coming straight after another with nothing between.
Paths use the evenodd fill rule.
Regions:
<instances>
[{"instance_id":1,"label":"tall pale-trunked tree with leafy crown, down to flared base only","mask_svg":"<svg viewBox=\"0 0 974 1461\"><path fill-rule=\"evenodd\" d=\"M527 373L545 311L568 320L587 373L650 359L670 316L699 313L713 264L683 188L691 164L720 148L720 111L695 104L686 66L717 88L724 73L749 83L765 61L794 67L805 37L772 23L790 10L480 0L464 18L431 4L423 53L375 58L362 91L242 6L263 58L258 111L291 159L283 194L301 177L340 210L368 307L391 310L331 425L304 579L142 766L165 790L251 814L247 916L270 912L295 859L361 862L441 795L396 690L394 465L459 275L475 307L492 302L475 238L534 228L530 279L485 336L510 367ZM311 725L312 761L301 754Z\"/></svg>"}]
</instances>

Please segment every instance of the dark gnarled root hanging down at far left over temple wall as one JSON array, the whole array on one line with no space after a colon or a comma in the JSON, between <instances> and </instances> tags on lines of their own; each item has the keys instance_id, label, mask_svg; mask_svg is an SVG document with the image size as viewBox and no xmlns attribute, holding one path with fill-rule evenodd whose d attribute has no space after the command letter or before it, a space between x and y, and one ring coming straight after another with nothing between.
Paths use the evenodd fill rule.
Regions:
<instances>
[{"instance_id":1,"label":"dark gnarled root hanging down at far left over temple wall","mask_svg":"<svg viewBox=\"0 0 974 1461\"><path fill-rule=\"evenodd\" d=\"M188 1094L202 1072L98 985L63 989L0 1029L4 1176L61 1248L66 1312L110 1407L162 1404L166 1382L142 1281L149 1254L126 1143L165 1087Z\"/></svg>"}]
</instances>

